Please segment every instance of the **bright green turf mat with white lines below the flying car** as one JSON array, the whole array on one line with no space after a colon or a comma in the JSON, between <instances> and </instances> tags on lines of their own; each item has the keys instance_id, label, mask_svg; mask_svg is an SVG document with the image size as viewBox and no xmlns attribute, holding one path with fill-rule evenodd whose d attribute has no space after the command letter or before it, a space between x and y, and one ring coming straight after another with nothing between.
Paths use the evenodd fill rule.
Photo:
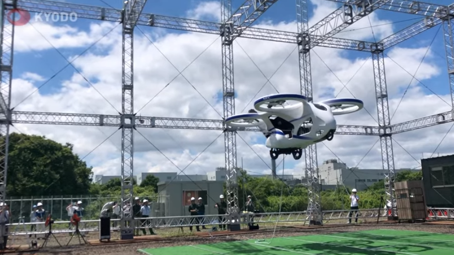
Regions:
<instances>
[{"instance_id":1,"label":"bright green turf mat with white lines below the flying car","mask_svg":"<svg viewBox=\"0 0 454 255\"><path fill-rule=\"evenodd\" d=\"M425 236L434 240L414 238ZM369 230L139 251L148 255L453 255L454 235L402 230Z\"/></svg>"}]
</instances>

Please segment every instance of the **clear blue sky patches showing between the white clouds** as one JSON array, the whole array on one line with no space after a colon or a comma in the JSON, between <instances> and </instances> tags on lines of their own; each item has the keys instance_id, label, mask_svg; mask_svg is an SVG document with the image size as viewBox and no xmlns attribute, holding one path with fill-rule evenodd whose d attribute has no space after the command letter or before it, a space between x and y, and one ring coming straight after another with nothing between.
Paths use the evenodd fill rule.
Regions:
<instances>
[{"instance_id":1,"label":"clear blue sky patches showing between the white clouds","mask_svg":"<svg viewBox=\"0 0 454 255\"><path fill-rule=\"evenodd\" d=\"M100 0L65 0L65 2L71 3L79 3L79 4L88 4L88 5L96 5L96 6L106 6L104 2ZM105 0L105 2L109 3L109 5L120 9L122 7L122 1L120 0ZM202 1L195 1L195 0L149 0L145 6L144 12L145 13L153 13L159 15L169 15L169 16L180 16L185 17L187 16L187 12L189 9L194 9L198 4ZM242 0L233 0L234 10L242 3ZM426 2L437 2L439 4L449 4L450 1L448 0L426 0ZM311 9L311 6L310 6ZM220 11L219 11L220 12ZM408 25L418 21L422 18L422 16L417 15L406 15L406 14L398 14L395 12L385 12L385 11L377 11L381 19L390 20L394 26L394 30L400 30L402 28L407 27ZM310 11L310 15L312 16L313 13ZM261 20L271 20L273 23L278 22L291 22L295 20L295 1L294 0L281 0L278 1L272 8L270 8L265 15L263 15L260 19ZM367 18L367 17L366 17ZM97 22L93 20L78 20L78 22L74 24L70 24L71 26L78 27L81 30L89 30L89 26L91 23ZM431 49L434 51L434 57L432 57L433 62L436 62L438 66L441 67L442 74L438 75L434 78L429 80L425 80L424 84L433 90L435 93L438 94L447 94L449 92L449 83L448 77L446 72L446 59L445 59L445 50L444 50L444 42L443 42L443 30L439 29L440 26L432 28L420 34L415 38L411 38L406 42L400 44L399 46L402 47L422 47L428 46L434 36L437 34L435 41L433 42ZM365 30L370 30L370 28L360 28ZM153 28L143 28L145 31L152 31ZM295 28L296 30L296 28ZM348 28L346 30L349 30ZM166 30L171 32L170 30ZM183 33L182 31L172 31L173 33ZM339 35L340 36L340 35ZM370 38L370 41L373 41L373 38ZM32 42L30 42L32 44ZM74 56L77 54L82 53L86 50L86 47L78 47L78 48L61 48L59 49L60 52L65 56L65 58L69 58L70 56ZM94 49L99 52L99 48L94 47ZM102 49L103 51L107 51L106 49ZM349 51L345 52L346 56L349 59L356 59L356 58L364 58L364 56L368 56L367 52L355 52ZM52 60L52 61L49 61ZM47 49L41 51L31 51L31 52L20 52L15 53L15 67L14 67L14 77L20 77L24 72L32 72L39 75L42 75L46 78L50 78L51 76L55 75L63 66L67 65L67 61L60 56L55 49ZM72 75L74 75L75 71L73 67L68 66L62 71L59 75L56 75L47 85L43 86L40 89L40 93L42 94L49 94L53 93L57 90L61 89L61 83L63 80L68 80ZM95 80L91 80L91 82L95 82ZM42 82L41 82L42 83ZM86 84L86 86L89 86ZM371 90L372 92L372 90ZM403 92L403 91L402 91ZM120 93L120 90L118 90ZM431 94L429 90L425 90L426 94ZM218 94L219 97L219 94ZM14 106L14 105L13 105ZM237 109L241 110L241 109ZM58 111L58 110L56 110ZM240 140L239 138L237 139ZM263 142L262 139L259 139L259 142ZM239 161L239 159L238 159ZM292 164L292 163L290 163ZM292 167L292 166L289 166Z\"/></svg>"}]
</instances>

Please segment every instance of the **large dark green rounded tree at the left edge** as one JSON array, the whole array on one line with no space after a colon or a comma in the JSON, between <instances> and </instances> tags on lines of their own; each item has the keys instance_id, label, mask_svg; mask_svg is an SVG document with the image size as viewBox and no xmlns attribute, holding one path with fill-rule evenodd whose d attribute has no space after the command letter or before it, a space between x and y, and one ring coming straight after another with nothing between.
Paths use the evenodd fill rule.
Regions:
<instances>
[{"instance_id":1,"label":"large dark green rounded tree at the left edge","mask_svg":"<svg viewBox=\"0 0 454 255\"><path fill-rule=\"evenodd\" d=\"M69 143L62 145L38 135L10 135L9 196L84 195L89 193L92 176L92 168Z\"/></svg>"}]
</instances>

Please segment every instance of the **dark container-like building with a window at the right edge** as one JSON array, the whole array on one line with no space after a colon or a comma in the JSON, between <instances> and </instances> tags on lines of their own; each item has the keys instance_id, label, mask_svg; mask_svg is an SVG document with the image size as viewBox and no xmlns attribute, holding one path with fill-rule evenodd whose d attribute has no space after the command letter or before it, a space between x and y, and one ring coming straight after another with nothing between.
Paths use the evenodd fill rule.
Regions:
<instances>
[{"instance_id":1,"label":"dark container-like building with a window at the right edge","mask_svg":"<svg viewBox=\"0 0 454 255\"><path fill-rule=\"evenodd\" d=\"M427 207L452 208L454 204L454 155L421 160Z\"/></svg>"}]
</instances>

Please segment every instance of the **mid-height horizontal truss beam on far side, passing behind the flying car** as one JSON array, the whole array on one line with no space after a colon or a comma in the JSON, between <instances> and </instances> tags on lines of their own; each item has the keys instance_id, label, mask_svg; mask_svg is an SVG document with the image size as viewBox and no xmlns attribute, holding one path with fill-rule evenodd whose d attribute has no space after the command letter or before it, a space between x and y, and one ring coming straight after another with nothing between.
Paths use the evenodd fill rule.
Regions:
<instances>
[{"instance_id":1,"label":"mid-height horizontal truss beam on far side, passing behind the flying car","mask_svg":"<svg viewBox=\"0 0 454 255\"><path fill-rule=\"evenodd\" d=\"M120 127L120 115L79 114L79 113L49 113L13 111L12 123L22 124L53 124L79 126L110 126ZM169 129L199 129L223 131L223 120L183 119L164 117L136 117L135 127L169 128ZM247 128L238 131L259 132L257 128ZM374 126L338 125L335 134L338 135L380 135L382 129Z\"/></svg>"}]
</instances>

